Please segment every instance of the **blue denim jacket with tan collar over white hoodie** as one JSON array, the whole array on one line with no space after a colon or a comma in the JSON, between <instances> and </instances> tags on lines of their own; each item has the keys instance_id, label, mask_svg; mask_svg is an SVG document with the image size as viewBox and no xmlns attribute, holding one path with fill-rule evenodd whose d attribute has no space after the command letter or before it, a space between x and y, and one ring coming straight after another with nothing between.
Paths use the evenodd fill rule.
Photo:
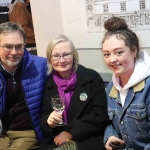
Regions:
<instances>
[{"instance_id":1,"label":"blue denim jacket with tan collar over white hoodie","mask_svg":"<svg viewBox=\"0 0 150 150\"><path fill-rule=\"evenodd\" d=\"M150 77L129 88L122 107L120 95L110 82L107 87L108 115L104 142L110 136L125 141L125 149L150 150Z\"/></svg>"}]
</instances>

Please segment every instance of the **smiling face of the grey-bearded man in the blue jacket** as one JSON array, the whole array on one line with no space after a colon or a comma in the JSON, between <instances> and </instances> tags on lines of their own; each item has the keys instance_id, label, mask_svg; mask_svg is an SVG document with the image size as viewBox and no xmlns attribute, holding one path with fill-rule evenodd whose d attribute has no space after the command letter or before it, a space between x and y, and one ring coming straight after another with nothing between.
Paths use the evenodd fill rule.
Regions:
<instances>
[{"instance_id":1,"label":"smiling face of the grey-bearded man in the blue jacket","mask_svg":"<svg viewBox=\"0 0 150 150\"><path fill-rule=\"evenodd\" d=\"M11 52L5 52L3 49L3 45L24 45L24 39L18 32L12 33L3 33L0 35L0 59L2 65L9 72L13 72L16 70L17 66L22 60L24 50L21 52L17 52L14 48Z\"/></svg>"}]
</instances>

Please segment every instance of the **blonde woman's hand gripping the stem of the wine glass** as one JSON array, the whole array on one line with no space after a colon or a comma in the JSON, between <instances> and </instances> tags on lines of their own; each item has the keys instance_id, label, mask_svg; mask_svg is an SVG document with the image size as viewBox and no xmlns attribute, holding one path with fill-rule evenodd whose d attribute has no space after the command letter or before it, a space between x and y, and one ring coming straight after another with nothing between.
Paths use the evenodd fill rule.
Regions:
<instances>
[{"instance_id":1,"label":"blonde woman's hand gripping the stem of the wine glass","mask_svg":"<svg viewBox=\"0 0 150 150\"><path fill-rule=\"evenodd\" d=\"M63 117L62 117L62 113L60 114L60 113L58 113L58 112L56 112L56 111L53 111L53 112L49 115L49 117L48 117L48 119L47 119L47 124L48 124L51 128L55 128L55 126L56 126L57 124L59 124L59 122L62 122L62 121L63 121L62 118L63 118Z\"/></svg>"}]
</instances>

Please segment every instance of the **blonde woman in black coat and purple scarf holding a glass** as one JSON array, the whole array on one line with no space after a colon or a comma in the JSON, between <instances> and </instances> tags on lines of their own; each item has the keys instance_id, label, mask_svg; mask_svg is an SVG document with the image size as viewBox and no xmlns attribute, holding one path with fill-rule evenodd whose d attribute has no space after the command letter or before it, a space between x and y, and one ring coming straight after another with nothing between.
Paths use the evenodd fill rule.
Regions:
<instances>
[{"instance_id":1,"label":"blonde woman in black coat and purple scarf holding a glass","mask_svg":"<svg viewBox=\"0 0 150 150\"><path fill-rule=\"evenodd\" d=\"M105 88L99 73L79 65L78 53L64 35L55 37L47 48L48 74L41 128L46 139L41 150L52 150L69 140L78 150L103 150L103 134L109 123ZM65 111L53 110L51 97L63 95ZM57 126L66 116L66 125ZM72 148L68 148L72 150Z\"/></svg>"}]
</instances>

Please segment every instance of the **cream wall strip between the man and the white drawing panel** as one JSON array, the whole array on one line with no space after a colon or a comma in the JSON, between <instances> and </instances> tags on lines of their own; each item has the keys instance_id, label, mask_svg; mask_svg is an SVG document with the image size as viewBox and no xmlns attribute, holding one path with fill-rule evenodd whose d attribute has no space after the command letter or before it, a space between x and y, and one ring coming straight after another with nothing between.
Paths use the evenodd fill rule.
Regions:
<instances>
[{"instance_id":1,"label":"cream wall strip between the man and the white drawing panel","mask_svg":"<svg viewBox=\"0 0 150 150\"><path fill-rule=\"evenodd\" d=\"M37 51L39 56L46 56L49 41L56 35L62 34L63 24L59 0L31 0L31 9Z\"/></svg>"}]
</instances>

